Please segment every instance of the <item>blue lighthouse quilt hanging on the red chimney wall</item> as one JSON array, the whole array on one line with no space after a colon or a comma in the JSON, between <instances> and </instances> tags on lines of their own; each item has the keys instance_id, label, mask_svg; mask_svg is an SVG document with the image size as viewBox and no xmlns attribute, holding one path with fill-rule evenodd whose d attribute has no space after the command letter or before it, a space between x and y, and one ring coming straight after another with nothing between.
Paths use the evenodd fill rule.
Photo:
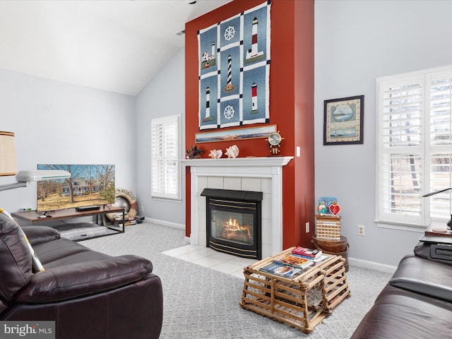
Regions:
<instances>
[{"instance_id":1,"label":"blue lighthouse quilt hanging on the red chimney wall","mask_svg":"<svg viewBox=\"0 0 452 339\"><path fill-rule=\"evenodd\" d=\"M270 1L198 32L199 129L268 123Z\"/></svg>"}]
</instances>

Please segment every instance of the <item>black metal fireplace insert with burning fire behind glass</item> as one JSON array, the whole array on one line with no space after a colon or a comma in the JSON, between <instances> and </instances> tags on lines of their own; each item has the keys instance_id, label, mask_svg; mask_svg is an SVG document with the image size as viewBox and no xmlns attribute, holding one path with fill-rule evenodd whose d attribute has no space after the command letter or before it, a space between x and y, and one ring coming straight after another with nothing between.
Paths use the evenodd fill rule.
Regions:
<instances>
[{"instance_id":1,"label":"black metal fireplace insert with burning fire behind glass","mask_svg":"<svg viewBox=\"0 0 452 339\"><path fill-rule=\"evenodd\" d=\"M261 259L262 192L204 189L206 244L242 258Z\"/></svg>"}]
</instances>

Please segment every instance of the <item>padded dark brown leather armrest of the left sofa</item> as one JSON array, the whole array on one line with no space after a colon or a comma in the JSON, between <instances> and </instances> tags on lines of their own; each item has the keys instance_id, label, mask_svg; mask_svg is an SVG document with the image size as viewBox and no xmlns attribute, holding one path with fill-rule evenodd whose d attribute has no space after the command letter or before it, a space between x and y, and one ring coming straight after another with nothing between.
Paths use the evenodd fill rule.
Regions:
<instances>
[{"instance_id":1,"label":"padded dark brown leather armrest of the left sofa","mask_svg":"<svg viewBox=\"0 0 452 339\"><path fill-rule=\"evenodd\" d=\"M133 255L49 268L32 275L16 302L40 304L95 295L135 283L152 270L150 261Z\"/></svg>"}]
</instances>

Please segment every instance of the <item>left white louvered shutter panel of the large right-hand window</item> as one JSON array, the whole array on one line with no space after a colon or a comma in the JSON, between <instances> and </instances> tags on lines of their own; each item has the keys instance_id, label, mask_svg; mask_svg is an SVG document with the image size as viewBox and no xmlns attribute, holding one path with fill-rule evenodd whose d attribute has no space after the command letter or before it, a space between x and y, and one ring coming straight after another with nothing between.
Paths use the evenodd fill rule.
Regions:
<instances>
[{"instance_id":1,"label":"left white louvered shutter panel of the large right-hand window","mask_svg":"<svg viewBox=\"0 0 452 339\"><path fill-rule=\"evenodd\" d=\"M379 83L380 220L421 223L423 105L423 76Z\"/></svg>"}]
</instances>

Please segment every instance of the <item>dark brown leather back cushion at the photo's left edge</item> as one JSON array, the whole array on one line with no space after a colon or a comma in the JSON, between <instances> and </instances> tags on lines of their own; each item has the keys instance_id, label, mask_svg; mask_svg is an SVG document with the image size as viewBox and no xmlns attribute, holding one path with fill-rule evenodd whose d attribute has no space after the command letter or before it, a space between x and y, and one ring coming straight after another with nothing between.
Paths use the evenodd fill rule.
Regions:
<instances>
[{"instance_id":1,"label":"dark brown leather back cushion at the photo's left edge","mask_svg":"<svg viewBox=\"0 0 452 339\"><path fill-rule=\"evenodd\" d=\"M32 258L20 227L0 213L0 299L11 302L30 282Z\"/></svg>"}]
</instances>

